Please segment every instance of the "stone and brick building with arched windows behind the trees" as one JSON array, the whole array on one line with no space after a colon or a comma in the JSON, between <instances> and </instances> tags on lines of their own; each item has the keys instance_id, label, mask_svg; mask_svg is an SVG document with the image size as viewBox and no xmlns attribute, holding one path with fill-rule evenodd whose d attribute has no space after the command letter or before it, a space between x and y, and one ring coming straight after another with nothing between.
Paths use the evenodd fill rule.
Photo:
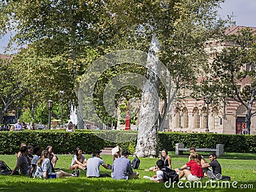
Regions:
<instances>
[{"instance_id":1,"label":"stone and brick building with arched windows behind the trees","mask_svg":"<svg viewBox=\"0 0 256 192\"><path fill-rule=\"evenodd\" d=\"M243 26L232 26L227 29L226 34L231 35L243 29ZM251 28L256 31L256 28ZM214 47L221 51L223 47L231 46L230 42L209 41L205 44L205 51L210 52ZM244 66L242 70L248 70ZM250 85L250 78L237 82L243 86ZM223 106L212 106L209 103L209 132L219 134L243 134L245 129L246 108L239 102L227 99ZM163 108L163 107L162 107ZM163 111L163 110L162 110ZM255 104L253 111L255 111ZM171 108L168 113L169 127L166 131L172 132L208 132L207 129L207 103L204 100L187 99L180 110ZM251 134L256 134L256 115L251 118Z\"/></svg>"}]
</instances>

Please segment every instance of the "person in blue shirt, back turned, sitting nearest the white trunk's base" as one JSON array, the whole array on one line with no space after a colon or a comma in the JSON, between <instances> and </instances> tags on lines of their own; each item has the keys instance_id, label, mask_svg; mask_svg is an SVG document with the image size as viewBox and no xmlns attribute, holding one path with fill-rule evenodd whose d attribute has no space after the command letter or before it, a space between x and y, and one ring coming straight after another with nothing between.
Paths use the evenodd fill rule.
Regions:
<instances>
[{"instance_id":1,"label":"person in blue shirt, back turned, sitting nearest the white trunk's base","mask_svg":"<svg viewBox=\"0 0 256 192\"><path fill-rule=\"evenodd\" d=\"M132 165L129 157L129 153L127 150L122 152L122 156L120 158L116 158L113 162L112 166L112 178L113 179L134 179L138 178L139 173L133 172Z\"/></svg>"}]
</instances>

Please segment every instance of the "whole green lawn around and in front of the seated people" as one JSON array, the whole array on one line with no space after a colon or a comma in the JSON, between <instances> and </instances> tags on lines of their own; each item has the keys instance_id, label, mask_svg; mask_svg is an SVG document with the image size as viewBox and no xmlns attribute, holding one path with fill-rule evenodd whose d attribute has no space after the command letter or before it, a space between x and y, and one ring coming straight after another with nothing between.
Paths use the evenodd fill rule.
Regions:
<instances>
[{"instance_id":1,"label":"whole green lawn around and in front of the seated people","mask_svg":"<svg viewBox=\"0 0 256 192\"><path fill-rule=\"evenodd\" d=\"M207 154L202 154L207 157ZM172 166L173 168L178 168L183 164L188 162L188 156L175 156L174 152L170 152L172 156ZM59 155L59 161L56 167L61 168L65 172L71 173L71 170L67 170L70 166L72 155ZM90 156L86 155L88 159ZM112 163L111 156L102 156L105 163ZM133 157L129 157L133 159ZM110 178L104 179L88 179L86 178L86 172L81 171L81 176L79 178L64 177L61 179L48 179L42 180L39 178L31 179L22 175L0 175L0 191L240 191L241 185L247 188L256 188L256 168L255 168L256 154L233 154L226 153L225 156L218 159L222 166L223 175L228 175L232 177L230 184L232 182L237 182L236 186L239 189L234 189L230 185L230 189L224 188L211 188L210 184L207 184L208 179L203 181L203 184L207 184L207 188L186 188L183 181L183 189L178 188L166 188L163 183L155 183L147 179L143 179L143 175L152 176L153 172L146 172L145 169L156 164L157 159L153 158L140 158L140 179L133 180L113 180ZM3 160L10 166L14 168L16 164L16 156L4 156L0 155L0 160ZM110 170L104 169L100 166L100 173L109 173ZM221 183L220 183L221 184ZM249 186L250 184L250 186ZM253 189L247 189L252 191ZM244 191L244 189L243 189Z\"/></svg>"}]
</instances>

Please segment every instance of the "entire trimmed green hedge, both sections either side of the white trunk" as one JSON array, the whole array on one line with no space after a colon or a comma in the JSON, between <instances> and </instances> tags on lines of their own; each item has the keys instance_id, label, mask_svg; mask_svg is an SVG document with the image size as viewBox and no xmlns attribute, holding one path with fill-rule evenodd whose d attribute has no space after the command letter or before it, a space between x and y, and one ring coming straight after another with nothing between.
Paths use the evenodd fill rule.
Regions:
<instances>
[{"instance_id":1,"label":"entire trimmed green hedge, both sections either side of the white trunk","mask_svg":"<svg viewBox=\"0 0 256 192\"><path fill-rule=\"evenodd\" d=\"M86 154L116 145L120 145L122 150L129 150L131 154L135 151L138 134L136 131L95 131L96 134L93 132L89 130L1 131L0 154L15 154L19 151L20 143L42 148L52 145L56 154L73 154L78 146L83 148ZM123 141L128 142L123 143ZM220 143L224 144L225 152L256 153L256 135L159 132L158 143L159 148L166 148L169 151L175 150L175 143L184 143L185 147L196 148L215 148L216 144Z\"/></svg>"}]
</instances>

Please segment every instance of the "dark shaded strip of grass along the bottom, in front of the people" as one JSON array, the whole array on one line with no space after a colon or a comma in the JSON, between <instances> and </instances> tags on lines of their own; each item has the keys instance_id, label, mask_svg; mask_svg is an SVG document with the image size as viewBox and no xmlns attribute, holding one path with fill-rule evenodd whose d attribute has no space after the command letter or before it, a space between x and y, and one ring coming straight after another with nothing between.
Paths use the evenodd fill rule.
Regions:
<instances>
[{"instance_id":1,"label":"dark shaded strip of grass along the bottom, in front of the people","mask_svg":"<svg viewBox=\"0 0 256 192\"><path fill-rule=\"evenodd\" d=\"M236 187L233 188L232 181L230 182L229 188L225 185L225 188L217 187L217 185L212 188L209 184L203 181L203 186L201 187L188 187L183 182L183 188L178 188L177 185L171 185L170 188L166 188L163 183L155 183L150 180L145 179L134 179L134 180L113 180L113 179L88 179L86 177L81 178L64 178L64 179L31 179L24 178L20 180L20 176L10 180L10 176L1 177L0 181L0 191L212 191L212 189L218 189L218 191L236 191L236 189L241 190L241 184L237 183ZM17 179L17 180L15 180ZM6 182L8 181L8 182ZM246 186L246 191L249 185L255 186L255 182L244 182L243 186Z\"/></svg>"}]
</instances>

